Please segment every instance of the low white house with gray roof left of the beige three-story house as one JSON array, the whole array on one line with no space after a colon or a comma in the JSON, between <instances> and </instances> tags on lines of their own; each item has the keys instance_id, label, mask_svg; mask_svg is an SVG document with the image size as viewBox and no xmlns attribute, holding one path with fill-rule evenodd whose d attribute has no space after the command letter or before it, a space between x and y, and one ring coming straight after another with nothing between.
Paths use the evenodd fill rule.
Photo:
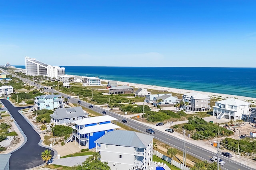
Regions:
<instances>
[{"instance_id":1,"label":"low white house with gray roof left of the beige three-story house","mask_svg":"<svg viewBox=\"0 0 256 170\"><path fill-rule=\"evenodd\" d=\"M179 102L179 98L177 96L172 96L168 94L164 94L162 96L157 96L153 98L153 105L169 105L169 104L177 104Z\"/></svg>"}]
</instances>

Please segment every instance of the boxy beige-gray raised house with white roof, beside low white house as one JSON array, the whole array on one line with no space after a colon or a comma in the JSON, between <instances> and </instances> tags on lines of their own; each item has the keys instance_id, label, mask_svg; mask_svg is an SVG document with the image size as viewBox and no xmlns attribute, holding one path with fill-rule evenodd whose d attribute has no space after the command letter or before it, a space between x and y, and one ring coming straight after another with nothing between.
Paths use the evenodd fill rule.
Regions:
<instances>
[{"instance_id":1,"label":"boxy beige-gray raised house with white roof, beside low white house","mask_svg":"<svg viewBox=\"0 0 256 170\"><path fill-rule=\"evenodd\" d=\"M208 95L197 92L184 94L182 96L183 102L188 102L182 109L189 109L191 111L207 111L210 110L211 98Z\"/></svg>"}]
</instances>

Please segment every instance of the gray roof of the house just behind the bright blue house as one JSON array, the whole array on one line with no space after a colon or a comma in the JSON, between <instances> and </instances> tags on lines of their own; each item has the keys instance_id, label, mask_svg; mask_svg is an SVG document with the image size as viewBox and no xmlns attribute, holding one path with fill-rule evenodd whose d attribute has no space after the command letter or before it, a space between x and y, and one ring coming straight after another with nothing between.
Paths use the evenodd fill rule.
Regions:
<instances>
[{"instance_id":1,"label":"gray roof of the house just behind the bright blue house","mask_svg":"<svg viewBox=\"0 0 256 170\"><path fill-rule=\"evenodd\" d=\"M84 113L82 107L79 106L79 107L55 109L53 114L50 115L50 117L54 119L67 119L71 117L81 117L86 115L88 115L88 113Z\"/></svg>"}]
</instances>

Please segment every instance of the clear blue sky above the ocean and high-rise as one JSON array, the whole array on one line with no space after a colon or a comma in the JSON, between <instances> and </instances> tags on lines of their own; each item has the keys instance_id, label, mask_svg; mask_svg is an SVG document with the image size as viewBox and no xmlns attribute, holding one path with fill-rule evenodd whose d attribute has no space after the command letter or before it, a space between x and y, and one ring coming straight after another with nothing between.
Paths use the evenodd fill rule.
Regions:
<instances>
[{"instance_id":1,"label":"clear blue sky above the ocean and high-rise","mask_svg":"<svg viewBox=\"0 0 256 170\"><path fill-rule=\"evenodd\" d=\"M255 0L0 0L0 64L255 67Z\"/></svg>"}]
</instances>

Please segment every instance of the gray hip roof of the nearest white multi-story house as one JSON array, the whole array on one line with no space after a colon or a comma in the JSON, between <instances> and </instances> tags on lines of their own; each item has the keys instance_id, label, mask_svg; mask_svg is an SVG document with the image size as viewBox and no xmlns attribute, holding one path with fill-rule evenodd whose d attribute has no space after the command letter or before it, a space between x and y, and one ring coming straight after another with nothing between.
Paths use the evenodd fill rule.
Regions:
<instances>
[{"instance_id":1,"label":"gray hip roof of the nearest white multi-story house","mask_svg":"<svg viewBox=\"0 0 256 170\"><path fill-rule=\"evenodd\" d=\"M115 130L106 133L94 143L118 145L124 147L146 148L154 137L134 131Z\"/></svg>"}]
</instances>

